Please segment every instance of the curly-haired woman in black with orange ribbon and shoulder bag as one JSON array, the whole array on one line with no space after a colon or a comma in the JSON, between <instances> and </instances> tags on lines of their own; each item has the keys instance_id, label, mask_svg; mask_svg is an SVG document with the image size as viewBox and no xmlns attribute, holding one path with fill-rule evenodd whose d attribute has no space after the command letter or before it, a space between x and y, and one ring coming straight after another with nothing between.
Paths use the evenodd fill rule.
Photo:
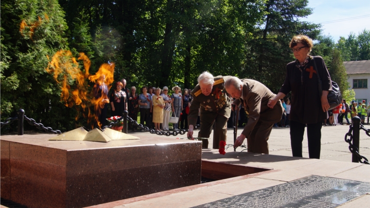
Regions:
<instances>
[{"instance_id":1,"label":"curly-haired woman in black with orange ribbon and shoulder bag","mask_svg":"<svg viewBox=\"0 0 370 208\"><path fill-rule=\"evenodd\" d=\"M310 56L313 45L312 39L307 36L292 38L289 47L296 60L287 64L284 84L268 105L273 107L279 99L292 92L289 116L292 154L302 157L302 141L307 125L309 157L319 159L322 121L328 117L328 93L332 90L332 81L324 59ZM322 81L322 92L319 92L317 75Z\"/></svg>"}]
</instances>

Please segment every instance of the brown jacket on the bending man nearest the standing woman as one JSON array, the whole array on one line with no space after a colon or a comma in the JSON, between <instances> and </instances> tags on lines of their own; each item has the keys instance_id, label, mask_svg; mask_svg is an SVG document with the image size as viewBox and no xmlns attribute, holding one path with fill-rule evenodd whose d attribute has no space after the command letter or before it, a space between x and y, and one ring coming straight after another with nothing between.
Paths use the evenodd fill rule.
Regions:
<instances>
[{"instance_id":1,"label":"brown jacket on the bending man nearest the standing woman","mask_svg":"<svg viewBox=\"0 0 370 208\"><path fill-rule=\"evenodd\" d=\"M271 124L279 122L284 113L284 107L280 100L274 108L267 106L267 103L275 97L275 94L262 83L253 79L241 79L241 82L243 82L243 99L235 100L233 104L239 105L242 103L245 112L249 114L248 123L241 132L248 138L258 121Z\"/></svg>"}]
</instances>

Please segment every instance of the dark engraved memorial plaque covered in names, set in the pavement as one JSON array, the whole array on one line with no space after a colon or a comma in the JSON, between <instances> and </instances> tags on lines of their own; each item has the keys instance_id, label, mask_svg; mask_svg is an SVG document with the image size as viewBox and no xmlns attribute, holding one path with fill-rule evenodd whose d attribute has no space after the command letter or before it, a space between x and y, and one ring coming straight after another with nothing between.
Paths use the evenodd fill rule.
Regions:
<instances>
[{"instance_id":1,"label":"dark engraved memorial plaque covered in names, set in the pavement","mask_svg":"<svg viewBox=\"0 0 370 208\"><path fill-rule=\"evenodd\" d=\"M194 208L334 208L370 191L370 183L312 175Z\"/></svg>"}]
</instances>

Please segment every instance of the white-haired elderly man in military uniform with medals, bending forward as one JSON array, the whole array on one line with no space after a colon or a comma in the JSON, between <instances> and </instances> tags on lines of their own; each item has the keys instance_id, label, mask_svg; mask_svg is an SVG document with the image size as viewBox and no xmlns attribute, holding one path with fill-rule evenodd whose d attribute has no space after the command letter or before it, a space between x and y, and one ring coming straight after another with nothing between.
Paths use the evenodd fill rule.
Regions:
<instances>
[{"instance_id":1,"label":"white-haired elderly man in military uniform with medals, bending forward","mask_svg":"<svg viewBox=\"0 0 370 208\"><path fill-rule=\"evenodd\" d=\"M198 77L198 85L191 92L191 101L187 120L189 123L188 137L193 137L194 126L197 123L198 111L201 108L201 130L198 137L208 138L215 123L213 132L213 149L219 149L220 141L226 142L226 123L230 117L230 99L226 96L225 80L230 76L213 76L203 72ZM208 148L208 139L203 139L203 148Z\"/></svg>"}]
</instances>

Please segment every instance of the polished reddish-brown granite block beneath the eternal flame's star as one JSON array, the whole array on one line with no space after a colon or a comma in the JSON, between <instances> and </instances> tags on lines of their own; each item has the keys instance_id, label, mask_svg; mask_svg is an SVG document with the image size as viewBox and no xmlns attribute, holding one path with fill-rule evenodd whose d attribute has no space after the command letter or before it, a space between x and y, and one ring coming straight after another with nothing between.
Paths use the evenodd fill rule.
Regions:
<instances>
[{"instance_id":1,"label":"polished reddish-brown granite block beneath the eternal flame's star","mask_svg":"<svg viewBox=\"0 0 370 208\"><path fill-rule=\"evenodd\" d=\"M29 208L80 208L201 181L200 141L48 141L53 136L1 136L1 198Z\"/></svg>"}]
</instances>

